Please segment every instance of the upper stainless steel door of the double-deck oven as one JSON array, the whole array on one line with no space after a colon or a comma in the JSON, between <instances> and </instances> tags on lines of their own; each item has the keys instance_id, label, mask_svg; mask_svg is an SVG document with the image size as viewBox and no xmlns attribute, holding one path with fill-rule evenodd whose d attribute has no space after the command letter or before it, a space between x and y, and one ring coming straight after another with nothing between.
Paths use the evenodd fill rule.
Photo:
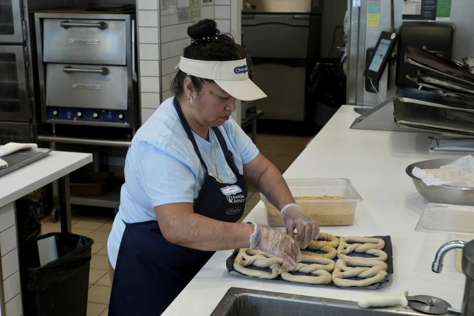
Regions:
<instances>
[{"instance_id":1,"label":"upper stainless steel door of the double-deck oven","mask_svg":"<svg viewBox=\"0 0 474 316\"><path fill-rule=\"evenodd\" d=\"M124 20L43 20L43 61L126 65Z\"/></svg>"}]
</instances>

